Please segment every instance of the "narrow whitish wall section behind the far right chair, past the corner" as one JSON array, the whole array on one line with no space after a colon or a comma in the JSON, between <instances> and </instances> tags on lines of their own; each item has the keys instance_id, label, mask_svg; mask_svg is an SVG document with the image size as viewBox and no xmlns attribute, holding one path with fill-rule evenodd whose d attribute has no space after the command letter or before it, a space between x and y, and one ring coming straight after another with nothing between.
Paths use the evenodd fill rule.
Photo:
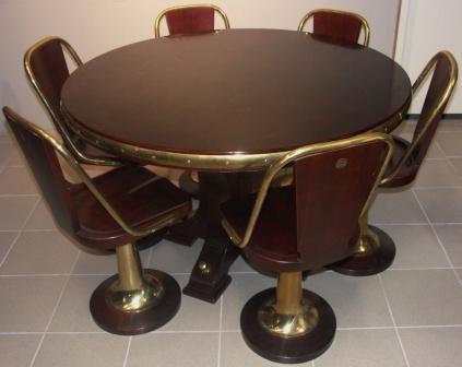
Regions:
<instances>
[{"instance_id":1,"label":"narrow whitish wall section behind the far right chair, past the corner","mask_svg":"<svg viewBox=\"0 0 462 367\"><path fill-rule=\"evenodd\" d=\"M414 81L427 61L439 50L450 50L462 62L461 0L402 0L396 61ZM455 87L446 113L462 113L462 94ZM419 114L426 90L423 88L411 106Z\"/></svg>"}]
</instances>

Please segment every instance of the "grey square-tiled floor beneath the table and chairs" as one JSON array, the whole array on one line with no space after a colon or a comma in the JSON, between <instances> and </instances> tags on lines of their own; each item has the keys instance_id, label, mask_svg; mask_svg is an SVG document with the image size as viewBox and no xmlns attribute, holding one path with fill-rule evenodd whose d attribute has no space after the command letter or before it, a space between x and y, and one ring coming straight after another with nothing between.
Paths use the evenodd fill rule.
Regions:
<instances>
[{"instance_id":1,"label":"grey square-tiled floor beneath the table and chairs","mask_svg":"<svg viewBox=\"0 0 462 367\"><path fill-rule=\"evenodd\" d=\"M416 182L381 192L370 221L395 240L396 260L380 275L322 272L306 281L331 304L339 330L332 347L305 366L460 366L462 121L442 122ZM122 338L98 329L88 311L95 286L116 271L114 256L68 242L14 142L0 134L0 366L275 365L249 351L239 333L242 305L275 281L242 260L215 305L183 296L170 323ZM183 285L200 249L200 241L191 248L163 241L143 251L142 261Z\"/></svg>"}]
</instances>

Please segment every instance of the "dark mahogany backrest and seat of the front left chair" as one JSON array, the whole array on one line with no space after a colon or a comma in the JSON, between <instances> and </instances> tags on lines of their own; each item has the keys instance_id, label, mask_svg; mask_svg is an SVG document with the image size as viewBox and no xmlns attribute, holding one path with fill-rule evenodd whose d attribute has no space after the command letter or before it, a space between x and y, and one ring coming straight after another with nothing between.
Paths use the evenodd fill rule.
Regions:
<instances>
[{"instance_id":1,"label":"dark mahogany backrest and seat of the front left chair","mask_svg":"<svg viewBox=\"0 0 462 367\"><path fill-rule=\"evenodd\" d=\"M83 183L71 183L63 175L50 143L17 122L21 118L3 109L14 135L62 230L84 246L107 249L134 241ZM126 165L93 179L95 186L126 222L138 229L153 225L173 212L185 217L191 202L167 179L150 170Z\"/></svg>"}]
</instances>

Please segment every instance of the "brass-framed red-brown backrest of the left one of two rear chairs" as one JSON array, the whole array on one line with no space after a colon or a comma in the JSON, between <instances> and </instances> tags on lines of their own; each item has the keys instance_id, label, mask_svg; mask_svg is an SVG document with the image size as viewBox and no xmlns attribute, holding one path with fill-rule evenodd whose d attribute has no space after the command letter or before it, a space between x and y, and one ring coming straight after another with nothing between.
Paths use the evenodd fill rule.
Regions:
<instances>
[{"instance_id":1,"label":"brass-framed red-brown backrest of the left one of two rear chairs","mask_svg":"<svg viewBox=\"0 0 462 367\"><path fill-rule=\"evenodd\" d=\"M170 35L214 31L215 13L222 17L225 28L228 29L229 21L225 12L213 4L179 5L165 9L155 20L154 35L155 37L161 36L161 22L164 17Z\"/></svg>"}]
</instances>

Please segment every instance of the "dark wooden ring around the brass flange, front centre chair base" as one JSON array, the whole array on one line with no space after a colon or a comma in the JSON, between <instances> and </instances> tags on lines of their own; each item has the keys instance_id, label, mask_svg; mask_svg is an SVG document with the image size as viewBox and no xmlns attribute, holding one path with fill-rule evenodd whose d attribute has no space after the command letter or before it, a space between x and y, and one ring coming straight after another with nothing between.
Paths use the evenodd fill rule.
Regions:
<instances>
[{"instance_id":1,"label":"dark wooden ring around the brass flange, front centre chair base","mask_svg":"<svg viewBox=\"0 0 462 367\"><path fill-rule=\"evenodd\" d=\"M329 304L317 294L304 289L304 298L318 310L313 330L300 336L283 338L270 333L259 322L261 306L275 299L276 288L269 288L250 298L240 313L240 328L247 345L263 358L285 364L313 359L324 353L335 335L335 315Z\"/></svg>"}]
</instances>

